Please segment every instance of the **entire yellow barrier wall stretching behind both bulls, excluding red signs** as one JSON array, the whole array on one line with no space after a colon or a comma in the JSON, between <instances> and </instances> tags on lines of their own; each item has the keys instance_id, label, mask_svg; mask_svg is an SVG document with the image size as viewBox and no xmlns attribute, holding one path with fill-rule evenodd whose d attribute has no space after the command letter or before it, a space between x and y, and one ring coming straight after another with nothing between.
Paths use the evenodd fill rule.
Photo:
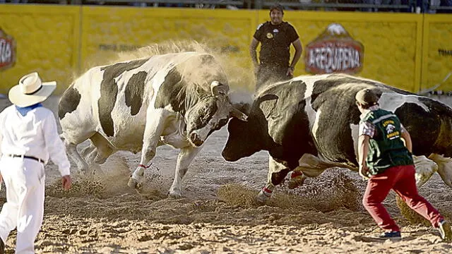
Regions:
<instances>
[{"instance_id":1,"label":"entire yellow barrier wall stretching behind both bulls, excluding red signs","mask_svg":"<svg viewBox=\"0 0 452 254\"><path fill-rule=\"evenodd\" d=\"M119 52L169 40L208 44L222 53L232 85L252 89L249 43L257 25L268 19L268 10L3 4L0 28L16 40L17 61L0 71L0 92L25 73L39 71L44 80L57 80L61 93L74 74L121 59ZM304 49L331 23L342 25L364 45L362 70L355 75L417 92L452 71L450 15L286 11L285 20L297 28ZM304 70L302 56L295 74ZM451 80L443 90L452 90Z\"/></svg>"}]
</instances>

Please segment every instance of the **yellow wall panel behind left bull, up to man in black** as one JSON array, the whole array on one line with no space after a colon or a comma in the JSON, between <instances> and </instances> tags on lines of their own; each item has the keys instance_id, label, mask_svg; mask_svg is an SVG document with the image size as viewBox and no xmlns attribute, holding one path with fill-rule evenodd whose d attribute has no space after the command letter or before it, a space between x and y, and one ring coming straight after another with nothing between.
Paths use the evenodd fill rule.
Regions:
<instances>
[{"instance_id":1,"label":"yellow wall panel behind left bull, up to man in black","mask_svg":"<svg viewBox=\"0 0 452 254\"><path fill-rule=\"evenodd\" d=\"M84 6L82 69L117 61L119 52L138 47L196 40L222 56L232 85L251 87L248 46L255 27L256 13L246 10Z\"/></svg>"}]
</instances>

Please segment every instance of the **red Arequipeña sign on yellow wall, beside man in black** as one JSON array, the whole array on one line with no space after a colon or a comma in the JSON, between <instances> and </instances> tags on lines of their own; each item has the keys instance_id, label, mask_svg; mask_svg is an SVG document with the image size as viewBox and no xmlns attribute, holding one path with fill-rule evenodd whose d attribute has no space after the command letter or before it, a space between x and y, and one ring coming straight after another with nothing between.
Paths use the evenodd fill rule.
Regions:
<instances>
[{"instance_id":1,"label":"red Arequipe\u00f1a sign on yellow wall, beside man in black","mask_svg":"<svg viewBox=\"0 0 452 254\"><path fill-rule=\"evenodd\" d=\"M364 47L353 40L342 25L333 23L307 44L304 63L308 73L358 73L362 70Z\"/></svg>"}]
</instances>

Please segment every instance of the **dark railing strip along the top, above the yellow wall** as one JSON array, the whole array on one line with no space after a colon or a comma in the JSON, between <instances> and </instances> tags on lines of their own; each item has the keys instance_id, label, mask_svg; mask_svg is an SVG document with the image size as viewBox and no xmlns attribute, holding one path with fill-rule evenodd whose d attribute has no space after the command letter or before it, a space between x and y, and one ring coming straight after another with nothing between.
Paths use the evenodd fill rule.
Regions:
<instances>
[{"instance_id":1,"label":"dark railing strip along the top, above the yellow wall","mask_svg":"<svg viewBox=\"0 0 452 254\"><path fill-rule=\"evenodd\" d=\"M278 2L287 10L403 11L452 13L452 0L0 0L17 4L98 4L185 8L268 9ZM393 4L389 4L389 3ZM446 4L446 5L445 5Z\"/></svg>"}]
</instances>

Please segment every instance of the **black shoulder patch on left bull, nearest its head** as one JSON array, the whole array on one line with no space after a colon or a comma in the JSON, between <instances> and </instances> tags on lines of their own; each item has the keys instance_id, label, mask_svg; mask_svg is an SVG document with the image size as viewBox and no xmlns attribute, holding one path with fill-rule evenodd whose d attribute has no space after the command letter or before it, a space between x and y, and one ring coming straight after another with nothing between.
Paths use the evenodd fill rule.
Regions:
<instances>
[{"instance_id":1,"label":"black shoulder patch on left bull, nearest its head","mask_svg":"<svg viewBox=\"0 0 452 254\"><path fill-rule=\"evenodd\" d=\"M172 68L157 91L154 105L155 109L171 105L174 111L181 112L184 110L183 103L185 95L183 83L180 82L181 80L182 75L176 70L176 68Z\"/></svg>"}]
</instances>

